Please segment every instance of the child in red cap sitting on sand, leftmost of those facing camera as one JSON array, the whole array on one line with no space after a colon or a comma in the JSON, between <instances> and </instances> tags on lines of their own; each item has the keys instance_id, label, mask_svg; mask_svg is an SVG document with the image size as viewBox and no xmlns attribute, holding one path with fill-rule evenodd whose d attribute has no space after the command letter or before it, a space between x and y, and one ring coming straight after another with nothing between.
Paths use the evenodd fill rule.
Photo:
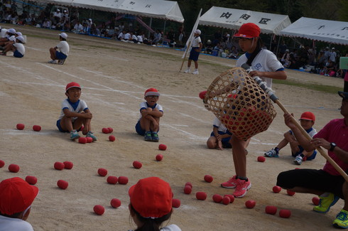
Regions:
<instances>
[{"instance_id":1,"label":"child in red cap sitting on sand, leftmost of those facing camera","mask_svg":"<svg viewBox=\"0 0 348 231\"><path fill-rule=\"evenodd\" d=\"M85 101L80 100L81 86L77 82L70 82L65 87L65 95L67 99L62 102L62 111L57 121L59 131L70 132L70 139L79 139L82 125L82 134L91 137L93 141L97 141L91 131L92 113L89 111Z\"/></svg>"}]
</instances>

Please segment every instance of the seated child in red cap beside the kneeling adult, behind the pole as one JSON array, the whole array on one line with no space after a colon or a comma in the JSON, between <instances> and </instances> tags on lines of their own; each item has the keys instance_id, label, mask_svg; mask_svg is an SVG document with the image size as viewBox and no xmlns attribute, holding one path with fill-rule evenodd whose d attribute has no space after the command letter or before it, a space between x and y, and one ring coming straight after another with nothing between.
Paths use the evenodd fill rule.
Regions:
<instances>
[{"instance_id":1,"label":"seated child in red cap beside the kneeling adult, behind the pole","mask_svg":"<svg viewBox=\"0 0 348 231\"><path fill-rule=\"evenodd\" d=\"M312 112L303 112L300 117L300 124L305 131L310 135L310 137L313 137L315 134L317 134L317 131L312 128L315 122L315 115ZM315 159L315 156L317 155L317 151L305 151L302 146L298 144L298 141L295 139L295 136L293 135L293 131L287 131L284 134L284 139L279 142L279 144L276 146L276 148L271 149L270 151L267 151L265 153L265 156L267 157L279 157L279 151L283 149L287 144L290 144L291 148L291 154L293 157L295 157L294 163L300 165L302 161L308 160L311 161Z\"/></svg>"}]
</instances>

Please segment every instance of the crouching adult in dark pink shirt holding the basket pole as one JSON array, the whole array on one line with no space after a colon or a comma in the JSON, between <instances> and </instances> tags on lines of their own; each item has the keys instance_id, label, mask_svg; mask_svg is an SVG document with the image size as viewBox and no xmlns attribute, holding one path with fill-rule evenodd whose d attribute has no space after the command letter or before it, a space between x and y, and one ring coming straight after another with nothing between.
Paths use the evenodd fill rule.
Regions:
<instances>
[{"instance_id":1,"label":"crouching adult in dark pink shirt holding the basket pole","mask_svg":"<svg viewBox=\"0 0 348 231\"><path fill-rule=\"evenodd\" d=\"M348 92L338 92L342 97L341 114L343 119L333 119L321 129L311 141L291 122L291 115L284 114L285 122L293 131L296 139L305 150L319 146L327 149L327 154L342 168L348 171ZM320 169L295 169L279 173L277 186L293 190L296 193L319 195L320 204L313 210L327 213L339 198L344 199L344 207L336 216L332 225L348 228L348 183L328 161Z\"/></svg>"}]
</instances>

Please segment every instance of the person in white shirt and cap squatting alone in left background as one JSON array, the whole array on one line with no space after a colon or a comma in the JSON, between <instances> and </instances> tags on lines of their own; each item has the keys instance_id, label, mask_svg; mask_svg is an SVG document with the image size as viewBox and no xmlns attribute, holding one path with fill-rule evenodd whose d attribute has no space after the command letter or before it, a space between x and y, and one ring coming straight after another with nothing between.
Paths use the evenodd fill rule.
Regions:
<instances>
[{"instance_id":1,"label":"person in white shirt and cap squatting alone in left background","mask_svg":"<svg viewBox=\"0 0 348 231\"><path fill-rule=\"evenodd\" d=\"M67 55L69 55L69 44L67 43L67 34L66 33L60 33L59 34L59 43L55 46L55 48L50 48L50 58L52 60L48 61L48 63L57 63L62 65L65 62L65 59L67 58ZM58 51L59 49L60 51Z\"/></svg>"}]
</instances>

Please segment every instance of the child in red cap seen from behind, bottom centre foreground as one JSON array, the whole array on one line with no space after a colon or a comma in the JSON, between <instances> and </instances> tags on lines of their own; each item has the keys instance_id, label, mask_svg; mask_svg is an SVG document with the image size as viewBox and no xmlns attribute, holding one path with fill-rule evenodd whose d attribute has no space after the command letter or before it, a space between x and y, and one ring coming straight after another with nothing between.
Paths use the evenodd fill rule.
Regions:
<instances>
[{"instance_id":1,"label":"child in red cap seen from behind, bottom centre foreground","mask_svg":"<svg viewBox=\"0 0 348 231\"><path fill-rule=\"evenodd\" d=\"M135 231L181 231L178 225L161 227L173 213L169 183L158 177L143 178L129 188L129 198L129 211L137 226Z\"/></svg>"}]
</instances>

